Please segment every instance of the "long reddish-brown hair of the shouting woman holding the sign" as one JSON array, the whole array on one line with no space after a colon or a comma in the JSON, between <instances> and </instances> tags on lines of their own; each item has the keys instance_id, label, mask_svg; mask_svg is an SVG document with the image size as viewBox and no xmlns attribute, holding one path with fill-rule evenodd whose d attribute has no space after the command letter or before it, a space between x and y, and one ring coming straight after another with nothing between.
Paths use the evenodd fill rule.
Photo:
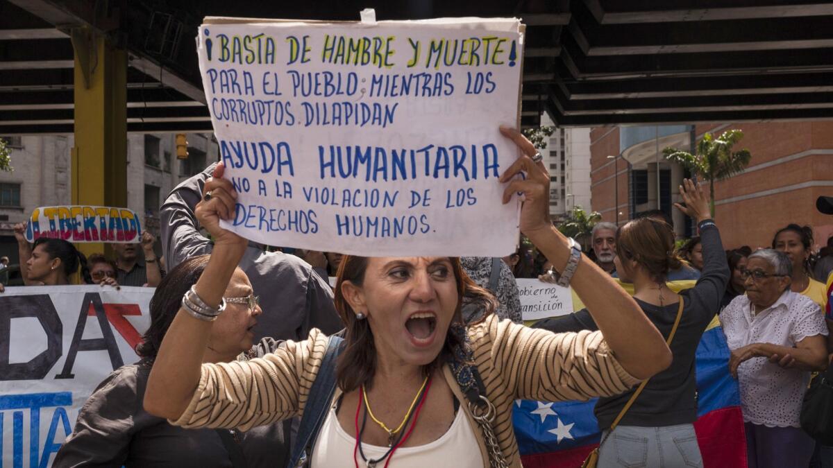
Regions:
<instances>
[{"instance_id":1,"label":"long reddish-brown hair of the shouting woman holding the sign","mask_svg":"<svg viewBox=\"0 0 833 468\"><path fill-rule=\"evenodd\" d=\"M373 376L376 374L377 352L376 346L373 344L373 332L367 320L357 320L356 311L353 311L350 304L347 302L344 294L342 294L342 284L344 281L350 281L356 286L362 286L364 276L367 271L367 256L342 256L342 263L338 266L338 281L335 290L335 304L338 315L342 318L345 325L346 334L344 336L345 348L341 356L338 357L336 366L336 375L339 388L342 391L352 391L359 386L371 387ZM450 257L451 268L454 272L454 280L457 285L457 306L454 311L454 318L451 319L451 325L462 324L462 303L463 298L466 298L466 303L476 303L477 306L482 306L484 313L481 320L489 316L495 311L497 301L495 296L486 289L477 286L471 278L466 275L460 264L460 259ZM434 371L442 362L451 356L456 346L461 346L463 343L459 341L450 331L446 333L446 342L442 346L442 351L436 359L423 368L426 375Z\"/></svg>"}]
</instances>

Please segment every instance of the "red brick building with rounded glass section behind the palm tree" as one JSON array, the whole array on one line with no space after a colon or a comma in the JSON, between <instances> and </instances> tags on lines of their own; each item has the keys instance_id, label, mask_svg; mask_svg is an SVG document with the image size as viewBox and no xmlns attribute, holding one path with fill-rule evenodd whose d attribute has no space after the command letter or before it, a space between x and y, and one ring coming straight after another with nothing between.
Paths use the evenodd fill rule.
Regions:
<instances>
[{"instance_id":1,"label":"red brick building with rounded glass section behind the palm tree","mask_svg":"<svg viewBox=\"0 0 833 468\"><path fill-rule=\"evenodd\" d=\"M816 198L833 195L833 122L593 128L593 209L620 225L661 209L672 214L679 236L690 236L691 223L671 207L685 172L662 160L662 148L692 151L706 132L731 128L744 132L736 149L749 149L752 159L745 172L715 184L715 217L726 248L769 246L776 230L791 222L811 225L816 245L824 245L833 217L816 211Z\"/></svg>"}]
</instances>

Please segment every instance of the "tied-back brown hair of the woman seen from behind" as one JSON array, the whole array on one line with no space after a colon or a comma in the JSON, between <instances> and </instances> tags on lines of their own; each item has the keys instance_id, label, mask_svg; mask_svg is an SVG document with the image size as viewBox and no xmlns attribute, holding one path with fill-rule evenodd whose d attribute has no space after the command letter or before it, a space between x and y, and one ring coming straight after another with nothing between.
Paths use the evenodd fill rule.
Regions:
<instances>
[{"instance_id":1,"label":"tied-back brown hair of the woman seen from behind","mask_svg":"<svg viewBox=\"0 0 833 468\"><path fill-rule=\"evenodd\" d=\"M682 266L671 225L651 217L635 219L616 231L616 255L636 261L656 282L666 281L668 271Z\"/></svg>"}]
</instances>

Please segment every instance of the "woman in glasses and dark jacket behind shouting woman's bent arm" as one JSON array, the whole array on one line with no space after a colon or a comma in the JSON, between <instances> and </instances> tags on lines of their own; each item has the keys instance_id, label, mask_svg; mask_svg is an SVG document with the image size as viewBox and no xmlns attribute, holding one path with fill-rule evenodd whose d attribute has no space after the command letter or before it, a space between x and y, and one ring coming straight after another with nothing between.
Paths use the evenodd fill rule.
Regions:
<instances>
[{"instance_id":1,"label":"woman in glasses and dark jacket behind shouting woman's bent arm","mask_svg":"<svg viewBox=\"0 0 833 468\"><path fill-rule=\"evenodd\" d=\"M188 431L171 426L142 408L147 377L159 346L177 315L182 295L202 276L209 256L193 256L177 265L157 287L151 300L151 326L137 346L141 360L113 371L98 385L78 413L72 435L52 466L217 467L286 466L291 421L250 431ZM252 346L252 327L261 314L252 285L240 268L232 274L222 301L225 312L208 336L203 362L247 361L277 346L265 338Z\"/></svg>"}]
</instances>

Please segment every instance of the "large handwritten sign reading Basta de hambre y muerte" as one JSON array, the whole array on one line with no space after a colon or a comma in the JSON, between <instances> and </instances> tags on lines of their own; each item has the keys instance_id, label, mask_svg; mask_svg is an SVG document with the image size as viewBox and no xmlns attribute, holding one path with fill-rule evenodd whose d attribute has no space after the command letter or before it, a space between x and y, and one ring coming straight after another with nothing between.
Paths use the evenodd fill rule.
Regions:
<instances>
[{"instance_id":1,"label":"large handwritten sign reading Basta de hambre y muerte","mask_svg":"<svg viewBox=\"0 0 833 468\"><path fill-rule=\"evenodd\" d=\"M249 21L249 22L245 22ZM207 18L202 82L242 236L365 256L504 256L519 202L517 19Z\"/></svg>"}]
</instances>

